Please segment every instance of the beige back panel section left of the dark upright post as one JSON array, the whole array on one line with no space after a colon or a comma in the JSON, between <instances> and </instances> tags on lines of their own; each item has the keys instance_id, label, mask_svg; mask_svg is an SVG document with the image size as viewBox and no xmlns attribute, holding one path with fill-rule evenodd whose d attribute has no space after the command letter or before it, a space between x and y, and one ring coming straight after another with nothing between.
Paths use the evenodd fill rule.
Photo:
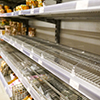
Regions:
<instances>
[{"instance_id":1,"label":"beige back panel section left of the dark upright post","mask_svg":"<svg viewBox=\"0 0 100 100\"><path fill-rule=\"evenodd\" d=\"M36 37L55 42L55 24L30 20L29 25L36 28Z\"/></svg>"}]
</instances>

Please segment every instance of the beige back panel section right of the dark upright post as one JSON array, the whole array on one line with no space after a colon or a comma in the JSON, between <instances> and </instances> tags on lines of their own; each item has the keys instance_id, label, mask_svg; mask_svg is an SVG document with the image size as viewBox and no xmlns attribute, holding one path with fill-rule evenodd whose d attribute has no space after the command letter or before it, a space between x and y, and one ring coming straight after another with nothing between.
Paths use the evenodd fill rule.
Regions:
<instances>
[{"instance_id":1,"label":"beige back panel section right of the dark upright post","mask_svg":"<svg viewBox=\"0 0 100 100\"><path fill-rule=\"evenodd\" d=\"M61 44L100 55L100 21L62 21Z\"/></svg>"}]
</instances>

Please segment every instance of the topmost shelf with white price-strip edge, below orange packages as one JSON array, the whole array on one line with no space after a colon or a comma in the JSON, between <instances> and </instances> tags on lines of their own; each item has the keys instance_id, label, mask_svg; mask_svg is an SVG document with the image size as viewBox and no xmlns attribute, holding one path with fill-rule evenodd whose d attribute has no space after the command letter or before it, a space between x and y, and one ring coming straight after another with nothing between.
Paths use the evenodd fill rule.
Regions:
<instances>
[{"instance_id":1,"label":"topmost shelf with white price-strip edge, below orange packages","mask_svg":"<svg viewBox=\"0 0 100 100\"><path fill-rule=\"evenodd\" d=\"M79 16L78 14L80 13L81 13L80 16L91 17L91 15L97 16L96 14L94 15L94 13L99 14L98 13L100 12L99 4L100 4L99 0L71 1L67 3L61 3L61 4L45 6L45 7L35 8L35 9L5 13L5 14L1 14L0 17L15 17L19 15L25 15L25 16L39 15L39 16L46 16L50 18L52 17L62 18L66 16ZM92 13L90 14L89 12Z\"/></svg>"}]
</instances>

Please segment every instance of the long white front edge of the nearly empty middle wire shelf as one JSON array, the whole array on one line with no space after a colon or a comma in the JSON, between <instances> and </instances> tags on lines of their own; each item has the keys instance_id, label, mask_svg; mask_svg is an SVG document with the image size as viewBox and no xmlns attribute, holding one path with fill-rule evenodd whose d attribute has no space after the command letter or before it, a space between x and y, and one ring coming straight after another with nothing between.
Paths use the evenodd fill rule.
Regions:
<instances>
[{"instance_id":1,"label":"long white front edge of the nearly empty middle wire shelf","mask_svg":"<svg viewBox=\"0 0 100 100\"><path fill-rule=\"evenodd\" d=\"M0 37L89 99L100 100L100 88L86 82L72 73L69 73L58 65L48 61L42 55L39 56L34 52L34 47L29 46L29 44L24 43L12 36L0 35ZM26 48L27 46L29 48Z\"/></svg>"}]
</instances>

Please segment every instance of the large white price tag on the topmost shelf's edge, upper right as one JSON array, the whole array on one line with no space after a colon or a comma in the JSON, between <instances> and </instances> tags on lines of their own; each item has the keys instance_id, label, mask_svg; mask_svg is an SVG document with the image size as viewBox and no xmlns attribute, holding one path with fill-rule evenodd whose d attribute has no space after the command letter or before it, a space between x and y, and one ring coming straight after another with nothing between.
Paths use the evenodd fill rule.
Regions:
<instances>
[{"instance_id":1,"label":"large white price tag on the topmost shelf's edge, upper right","mask_svg":"<svg viewBox=\"0 0 100 100\"><path fill-rule=\"evenodd\" d=\"M88 0L81 0L81 1L77 1L76 4L76 10L78 9L86 9L88 7Z\"/></svg>"}]
</instances>

